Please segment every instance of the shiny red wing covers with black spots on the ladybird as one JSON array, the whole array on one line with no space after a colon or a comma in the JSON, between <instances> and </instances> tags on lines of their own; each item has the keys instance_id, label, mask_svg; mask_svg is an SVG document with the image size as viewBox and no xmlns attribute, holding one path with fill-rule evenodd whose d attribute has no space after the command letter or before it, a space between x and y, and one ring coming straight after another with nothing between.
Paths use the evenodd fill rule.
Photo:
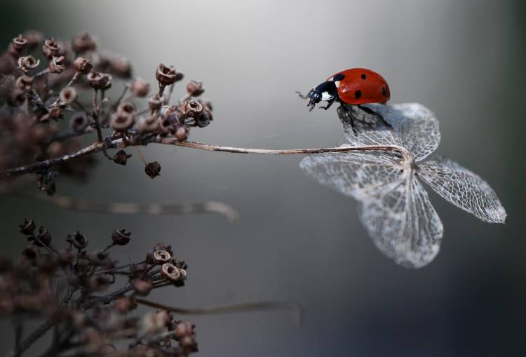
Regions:
<instances>
[{"instance_id":1,"label":"shiny red wing covers with black spots on the ladybird","mask_svg":"<svg viewBox=\"0 0 526 357\"><path fill-rule=\"evenodd\" d=\"M342 76L343 79L339 79ZM327 81L335 81L339 99L349 105L384 104L391 96L384 77L370 69L346 69L330 76Z\"/></svg>"}]
</instances>

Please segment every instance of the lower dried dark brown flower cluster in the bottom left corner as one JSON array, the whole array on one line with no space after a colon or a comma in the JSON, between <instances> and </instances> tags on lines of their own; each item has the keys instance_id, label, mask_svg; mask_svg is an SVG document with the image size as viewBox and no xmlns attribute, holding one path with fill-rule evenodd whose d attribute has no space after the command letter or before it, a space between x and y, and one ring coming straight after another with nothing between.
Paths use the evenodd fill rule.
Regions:
<instances>
[{"instance_id":1,"label":"lower dried dark brown flower cluster in the bottom left corner","mask_svg":"<svg viewBox=\"0 0 526 357\"><path fill-rule=\"evenodd\" d=\"M30 243L20 259L0 260L0 314L13 316L15 326L35 316L47 321L19 338L16 355L52 327L54 337L45 356L72 351L90 356L187 356L197 351L191 323L177 321L164 309L142 317L135 312L137 302L147 302L138 297L184 285L187 264L175 258L170 245L158 243L142 261L119 266L109 252L130 242L131 234L124 229L115 229L109 245L95 251L88 250L88 238L79 231L67 236L63 249L55 247L48 229L36 229L33 220L22 222L20 232ZM117 347L121 339L130 340L126 349Z\"/></svg>"}]
</instances>

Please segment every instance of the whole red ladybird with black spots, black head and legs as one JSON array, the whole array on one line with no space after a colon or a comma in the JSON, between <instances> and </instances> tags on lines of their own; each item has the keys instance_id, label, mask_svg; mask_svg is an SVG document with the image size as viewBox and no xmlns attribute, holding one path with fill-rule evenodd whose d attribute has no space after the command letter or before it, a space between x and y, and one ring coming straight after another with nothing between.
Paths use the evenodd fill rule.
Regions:
<instances>
[{"instance_id":1,"label":"whole red ladybird with black spots, black head and legs","mask_svg":"<svg viewBox=\"0 0 526 357\"><path fill-rule=\"evenodd\" d=\"M391 97L389 85L384 77L365 68L351 68L338 72L312 88L307 95L302 95L299 92L297 94L303 99L309 100L307 104L307 107L310 107L309 110L312 110L322 100L327 102L325 107L321 107L325 110L329 109L332 103L337 101L342 104L346 112L349 112L346 105L357 105L368 114L379 116L379 119L382 121L384 121L384 118L380 114L361 105L370 103L385 104ZM351 123L353 124L352 118ZM391 127L389 123L386 123L386 125Z\"/></svg>"}]
</instances>

